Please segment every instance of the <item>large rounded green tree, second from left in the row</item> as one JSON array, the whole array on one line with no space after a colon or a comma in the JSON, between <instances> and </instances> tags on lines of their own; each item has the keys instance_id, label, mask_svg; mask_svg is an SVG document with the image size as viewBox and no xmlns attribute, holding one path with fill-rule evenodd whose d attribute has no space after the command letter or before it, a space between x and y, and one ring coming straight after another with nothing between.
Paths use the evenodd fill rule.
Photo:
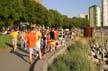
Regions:
<instances>
[{"instance_id":1,"label":"large rounded green tree, second from left in the row","mask_svg":"<svg viewBox=\"0 0 108 71\"><path fill-rule=\"evenodd\" d=\"M25 13L23 21L31 23L45 24L47 21L47 9L34 1L24 0Z\"/></svg>"}]
</instances>

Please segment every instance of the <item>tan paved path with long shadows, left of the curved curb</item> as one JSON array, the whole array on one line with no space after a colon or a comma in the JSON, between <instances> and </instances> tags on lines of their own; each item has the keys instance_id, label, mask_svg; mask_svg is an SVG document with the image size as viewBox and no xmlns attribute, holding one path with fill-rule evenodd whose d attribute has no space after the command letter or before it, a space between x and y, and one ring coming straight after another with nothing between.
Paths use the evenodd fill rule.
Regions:
<instances>
[{"instance_id":1,"label":"tan paved path with long shadows, left of the curved curb","mask_svg":"<svg viewBox=\"0 0 108 71\"><path fill-rule=\"evenodd\" d=\"M17 49L11 52L11 48L0 51L0 71L33 71L34 64L29 64L28 52L23 49Z\"/></svg>"}]
</instances>

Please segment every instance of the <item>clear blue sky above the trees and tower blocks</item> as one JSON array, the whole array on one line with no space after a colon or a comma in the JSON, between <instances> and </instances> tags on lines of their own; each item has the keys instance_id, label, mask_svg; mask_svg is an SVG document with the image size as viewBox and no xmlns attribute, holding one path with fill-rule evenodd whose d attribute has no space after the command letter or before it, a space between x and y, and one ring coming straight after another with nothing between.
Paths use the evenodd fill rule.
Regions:
<instances>
[{"instance_id":1,"label":"clear blue sky above the trees and tower blocks","mask_svg":"<svg viewBox=\"0 0 108 71\"><path fill-rule=\"evenodd\" d=\"M92 5L101 7L101 0L42 0L42 4L47 9L57 10L63 15L79 17L81 13L88 14Z\"/></svg>"}]
</instances>

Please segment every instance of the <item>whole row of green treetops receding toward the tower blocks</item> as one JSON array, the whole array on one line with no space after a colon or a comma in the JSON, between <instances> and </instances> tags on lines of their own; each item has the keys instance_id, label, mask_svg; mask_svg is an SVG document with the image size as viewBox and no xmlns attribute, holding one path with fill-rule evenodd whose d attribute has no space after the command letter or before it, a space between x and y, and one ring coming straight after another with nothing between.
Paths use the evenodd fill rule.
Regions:
<instances>
[{"instance_id":1,"label":"whole row of green treetops receding toward the tower blocks","mask_svg":"<svg viewBox=\"0 0 108 71\"><path fill-rule=\"evenodd\" d=\"M83 28L88 24L87 19L69 18L57 10L48 10L33 0L0 0L0 26L13 26L16 22L38 23L58 28Z\"/></svg>"}]
</instances>

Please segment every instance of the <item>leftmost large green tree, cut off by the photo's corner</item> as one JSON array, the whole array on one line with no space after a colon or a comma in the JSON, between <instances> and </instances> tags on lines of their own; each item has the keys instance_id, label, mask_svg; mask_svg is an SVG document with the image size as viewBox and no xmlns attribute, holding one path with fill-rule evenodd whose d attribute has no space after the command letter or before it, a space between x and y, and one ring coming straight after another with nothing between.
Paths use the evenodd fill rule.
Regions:
<instances>
[{"instance_id":1,"label":"leftmost large green tree, cut off by the photo's corner","mask_svg":"<svg viewBox=\"0 0 108 71\"><path fill-rule=\"evenodd\" d=\"M22 0L0 0L0 17L5 26L13 25L22 15Z\"/></svg>"}]
</instances>

